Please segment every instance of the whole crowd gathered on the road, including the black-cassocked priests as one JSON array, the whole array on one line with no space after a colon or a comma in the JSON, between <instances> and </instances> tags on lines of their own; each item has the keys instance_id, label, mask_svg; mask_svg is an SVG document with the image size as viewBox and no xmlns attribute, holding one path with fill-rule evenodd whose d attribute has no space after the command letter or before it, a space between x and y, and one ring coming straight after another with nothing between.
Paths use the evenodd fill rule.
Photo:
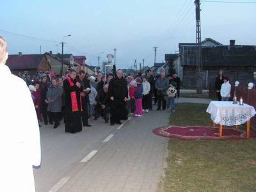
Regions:
<instances>
[{"instance_id":1,"label":"whole crowd gathered on the road, including the black-cassocked priests","mask_svg":"<svg viewBox=\"0 0 256 192\"><path fill-rule=\"evenodd\" d=\"M111 125L122 124L128 116L141 117L152 110L153 100L157 110L167 107L174 112L174 100L179 97L179 77L166 77L164 70L156 78L151 70L143 76L139 72L125 77L122 70L117 70L116 76L105 77L101 72L88 76L83 70L77 74L72 69L63 77L44 72L34 77L28 87L39 126L44 122L56 129L63 119L65 131L71 133L92 126L89 122L100 117Z\"/></svg>"}]
</instances>

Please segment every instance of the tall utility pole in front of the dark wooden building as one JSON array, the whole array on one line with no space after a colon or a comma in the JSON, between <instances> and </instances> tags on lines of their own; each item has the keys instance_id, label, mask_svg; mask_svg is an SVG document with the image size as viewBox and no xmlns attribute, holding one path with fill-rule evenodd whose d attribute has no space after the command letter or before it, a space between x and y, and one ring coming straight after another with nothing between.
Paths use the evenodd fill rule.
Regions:
<instances>
[{"instance_id":1,"label":"tall utility pole in front of the dark wooden building","mask_svg":"<svg viewBox=\"0 0 256 192\"><path fill-rule=\"evenodd\" d=\"M202 47L200 0L195 0L196 6L196 93L202 94Z\"/></svg>"}]
</instances>

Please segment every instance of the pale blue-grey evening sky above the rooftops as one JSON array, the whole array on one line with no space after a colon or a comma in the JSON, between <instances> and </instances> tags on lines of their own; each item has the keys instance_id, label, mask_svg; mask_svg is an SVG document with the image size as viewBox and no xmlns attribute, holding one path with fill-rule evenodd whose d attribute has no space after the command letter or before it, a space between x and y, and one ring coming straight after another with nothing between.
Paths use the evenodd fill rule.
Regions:
<instances>
[{"instance_id":1,"label":"pale blue-grey evening sky above the rooftops","mask_svg":"<svg viewBox=\"0 0 256 192\"><path fill-rule=\"evenodd\" d=\"M256 3L202 2L201 9L202 40L256 45ZM156 61L162 62L180 42L195 42L191 0L1 0L0 16L10 54L38 54L40 45L42 52L61 52L58 42L70 34L64 53L85 55L89 65L98 65L99 52L102 62L116 48L117 68L131 67L134 59L152 66L153 47L159 47Z\"/></svg>"}]
</instances>

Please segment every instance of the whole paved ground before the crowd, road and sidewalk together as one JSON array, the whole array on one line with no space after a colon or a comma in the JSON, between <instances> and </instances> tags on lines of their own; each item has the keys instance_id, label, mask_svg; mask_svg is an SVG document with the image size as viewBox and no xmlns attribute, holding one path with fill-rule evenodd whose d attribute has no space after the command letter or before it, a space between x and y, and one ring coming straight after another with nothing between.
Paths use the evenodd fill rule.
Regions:
<instances>
[{"instance_id":1,"label":"whole paved ground before the crowd, road and sidewalk together","mask_svg":"<svg viewBox=\"0 0 256 192\"><path fill-rule=\"evenodd\" d=\"M76 134L65 133L63 124L42 126L36 191L155 191L168 139L152 129L168 125L168 115L153 110L121 127L99 119Z\"/></svg>"}]
</instances>

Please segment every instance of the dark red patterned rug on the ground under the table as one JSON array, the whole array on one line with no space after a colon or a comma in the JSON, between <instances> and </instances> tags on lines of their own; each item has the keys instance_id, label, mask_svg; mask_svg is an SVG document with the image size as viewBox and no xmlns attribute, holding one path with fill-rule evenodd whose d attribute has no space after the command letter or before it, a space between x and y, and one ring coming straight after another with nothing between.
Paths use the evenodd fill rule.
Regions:
<instances>
[{"instance_id":1,"label":"dark red patterned rug on the ground under the table","mask_svg":"<svg viewBox=\"0 0 256 192\"><path fill-rule=\"evenodd\" d=\"M200 127L200 126L169 126L158 127L153 130L154 134L163 136L166 138L176 138L179 140L242 140L246 138L246 132L234 127L223 127L222 138L219 138L219 129L212 129L212 127ZM250 132L250 138L255 138L256 134Z\"/></svg>"}]
</instances>

